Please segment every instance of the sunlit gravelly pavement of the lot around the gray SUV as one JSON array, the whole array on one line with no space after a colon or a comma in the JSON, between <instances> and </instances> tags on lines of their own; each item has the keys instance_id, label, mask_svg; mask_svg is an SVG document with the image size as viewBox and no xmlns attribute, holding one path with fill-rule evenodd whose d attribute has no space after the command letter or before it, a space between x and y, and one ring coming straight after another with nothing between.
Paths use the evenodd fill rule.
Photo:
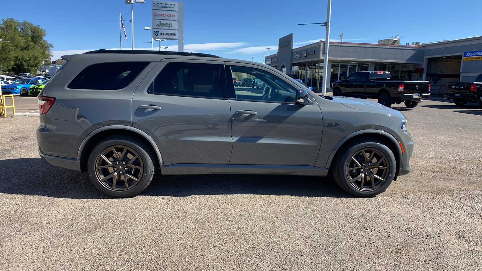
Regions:
<instances>
[{"instance_id":1,"label":"sunlit gravelly pavement of the lot around the gray SUV","mask_svg":"<svg viewBox=\"0 0 482 271\"><path fill-rule=\"evenodd\" d=\"M413 171L374 198L251 175L157 176L109 198L41 161L38 117L0 118L0 270L482 270L482 109L395 108Z\"/></svg>"}]
</instances>

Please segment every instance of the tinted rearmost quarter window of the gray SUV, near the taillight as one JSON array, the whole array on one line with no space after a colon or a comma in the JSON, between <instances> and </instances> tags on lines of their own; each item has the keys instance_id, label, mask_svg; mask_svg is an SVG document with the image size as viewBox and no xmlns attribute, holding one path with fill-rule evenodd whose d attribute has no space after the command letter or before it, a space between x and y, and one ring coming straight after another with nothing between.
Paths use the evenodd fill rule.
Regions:
<instances>
[{"instance_id":1,"label":"tinted rearmost quarter window of the gray SUV, near the taillight","mask_svg":"<svg viewBox=\"0 0 482 271\"><path fill-rule=\"evenodd\" d=\"M91 65L68 84L73 89L118 90L128 86L149 62L111 62Z\"/></svg>"}]
</instances>

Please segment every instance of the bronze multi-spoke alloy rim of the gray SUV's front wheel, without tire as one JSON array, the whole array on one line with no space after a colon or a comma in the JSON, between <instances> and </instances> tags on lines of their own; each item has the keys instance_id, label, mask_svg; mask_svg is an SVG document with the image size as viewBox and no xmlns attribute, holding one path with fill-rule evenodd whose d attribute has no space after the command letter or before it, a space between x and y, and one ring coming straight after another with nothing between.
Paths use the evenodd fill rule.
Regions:
<instances>
[{"instance_id":1,"label":"bronze multi-spoke alloy rim of the gray SUV's front wheel, without tire","mask_svg":"<svg viewBox=\"0 0 482 271\"><path fill-rule=\"evenodd\" d=\"M378 149L364 148L351 156L347 166L350 184L357 190L370 191L382 186L389 177L388 159Z\"/></svg>"}]
</instances>

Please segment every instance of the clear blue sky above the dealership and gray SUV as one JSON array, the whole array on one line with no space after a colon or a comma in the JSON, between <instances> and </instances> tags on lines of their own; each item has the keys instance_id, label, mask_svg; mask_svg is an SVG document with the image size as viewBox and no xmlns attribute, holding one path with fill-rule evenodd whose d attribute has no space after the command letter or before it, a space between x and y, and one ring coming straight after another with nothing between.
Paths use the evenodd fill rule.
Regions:
<instances>
[{"instance_id":1,"label":"clear blue sky above the dealership and gray SUV","mask_svg":"<svg viewBox=\"0 0 482 271\"><path fill-rule=\"evenodd\" d=\"M19 5L19 3L22 3ZM134 3L134 47L148 48L151 26L150 0ZM326 0L185 0L186 52L261 62L278 39L295 33L295 46L325 38L321 26L298 26L326 21ZM400 35L402 44L482 35L480 0L333 0L330 40L343 31L347 42L376 43ZM47 31L54 58L86 50L119 48L119 10L131 48L131 6L124 0L2 0L0 18L27 20ZM465 12L464 12L465 11ZM453 15L449 15L453 14ZM154 45L159 46L155 41ZM176 48L177 41L162 42ZM173 46L174 45L174 46ZM170 50L170 49L169 49Z\"/></svg>"}]
</instances>

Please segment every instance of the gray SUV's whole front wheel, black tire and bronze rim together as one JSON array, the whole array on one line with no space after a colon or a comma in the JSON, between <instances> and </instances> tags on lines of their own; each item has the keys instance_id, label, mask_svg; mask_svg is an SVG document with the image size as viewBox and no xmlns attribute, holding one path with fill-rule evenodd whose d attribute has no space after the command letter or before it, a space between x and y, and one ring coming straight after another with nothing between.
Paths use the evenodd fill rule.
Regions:
<instances>
[{"instance_id":1,"label":"gray SUV's whole front wheel, black tire and bronze rim together","mask_svg":"<svg viewBox=\"0 0 482 271\"><path fill-rule=\"evenodd\" d=\"M357 159L360 167L354 162L353 157ZM396 160L393 152L373 138L362 138L338 150L332 168L332 175L338 186L358 197L373 197L387 190L395 177L395 172ZM374 177L375 175L378 177ZM368 185L365 182L368 182Z\"/></svg>"}]
</instances>

